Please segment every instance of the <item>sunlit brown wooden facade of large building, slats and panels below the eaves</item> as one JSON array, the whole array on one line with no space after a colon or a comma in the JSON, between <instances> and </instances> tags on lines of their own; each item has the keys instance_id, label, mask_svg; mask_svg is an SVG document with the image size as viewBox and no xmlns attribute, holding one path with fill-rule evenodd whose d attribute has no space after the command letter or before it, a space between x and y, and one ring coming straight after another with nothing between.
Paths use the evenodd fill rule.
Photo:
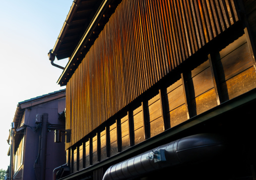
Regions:
<instances>
[{"instance_id":1,"label":"sunlit brown wooden facade of large building, slats and panels below the eaves","mask_svg":"<svg viewBox=\"0 0 256 180\"><path fill-rule=\"evenodd\" d=\"M113 161L158 145L154 139L200 133L190 129L217 117L225 124L220 114L253 100L239 104L256 88L253 1L116 2L103 1L98 26L58 81L67 85L74 173L63 179L101 179ZM231 133L216 124L209 132Z\"/></svg>"}]
</instances>

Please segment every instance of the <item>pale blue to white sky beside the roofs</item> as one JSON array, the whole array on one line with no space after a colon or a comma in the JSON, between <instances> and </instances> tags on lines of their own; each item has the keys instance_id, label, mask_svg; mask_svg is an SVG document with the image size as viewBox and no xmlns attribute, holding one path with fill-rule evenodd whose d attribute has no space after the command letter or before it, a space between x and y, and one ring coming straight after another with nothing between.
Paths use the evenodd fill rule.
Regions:
<instances>
[{"instance_id":1,"label":"pale blue to white sky beside the roofs","mask_svg":"<svg viewBox=\"0 0 256 180\"><path fill-rule=\"evenodd\" d=\"M0 169L7 169L7 138L18 102L65 87L51 66L53 48L72 0L0 1ZM65 66L67 60L54 61Z\"/></svg>"}]
</instances>

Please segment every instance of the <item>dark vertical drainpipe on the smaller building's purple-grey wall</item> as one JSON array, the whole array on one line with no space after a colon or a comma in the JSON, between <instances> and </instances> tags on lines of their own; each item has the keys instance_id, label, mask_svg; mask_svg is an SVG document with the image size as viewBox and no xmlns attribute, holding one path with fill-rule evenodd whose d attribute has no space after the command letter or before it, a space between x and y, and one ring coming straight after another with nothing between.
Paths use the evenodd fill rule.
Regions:
<instances>
[{"instance_id":1,"label":"dark vertical drainpipe on the smaller building's purple-grey wall","mask_svg":"<svg viewBox=\"0 0 256 180\"><path fill-rule=\"evenodd\" d=\"M46 167L46 148L47 148L47 123L48 114L42 114L42 131L41 131L41 151L40 151L40 180L45 180L45 167Z\"/></svg>"}]
</instances>

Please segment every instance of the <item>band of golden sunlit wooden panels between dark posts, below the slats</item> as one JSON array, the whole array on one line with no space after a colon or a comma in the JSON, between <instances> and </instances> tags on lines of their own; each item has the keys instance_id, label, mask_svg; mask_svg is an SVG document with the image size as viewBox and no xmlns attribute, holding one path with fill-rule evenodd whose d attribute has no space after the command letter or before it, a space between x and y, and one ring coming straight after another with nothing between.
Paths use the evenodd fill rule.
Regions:
<instances>
[{"instance_id":1,"label":"band of golden sunlit wooden panels between dark posts, below the slats","mask_svg":"<svg viewBox=\"0 0 256 180\"><path fill-rule=\"evenodd\" d=\"M73 172L256 88L254 60L245 34L224 47L168 76L149 94L137 98L126 112L117 113L103 127L73 145ZM85 153L75 160L78 148Z\"/></svg>"}]
</instances>

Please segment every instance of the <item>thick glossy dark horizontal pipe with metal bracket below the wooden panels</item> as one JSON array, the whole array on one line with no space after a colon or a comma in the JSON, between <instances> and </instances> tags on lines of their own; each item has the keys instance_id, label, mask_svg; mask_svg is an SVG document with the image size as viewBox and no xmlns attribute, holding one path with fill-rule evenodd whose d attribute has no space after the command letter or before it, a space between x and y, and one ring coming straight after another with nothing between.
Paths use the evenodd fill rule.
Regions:
<instances>
[{"instance_id":1,"label":"thick glossy dark horizontal pipe with metal bracket below the wooden panels","mask_svg":"<svg viewBox=\"0 0 256 180\"><path fill-rule=\"evenodd\" d=\"M187 136L110 166L103 180L131 179L164 167L207 160L225 148L224 139L216 134Z\"/></svg>"}]
</instances>

